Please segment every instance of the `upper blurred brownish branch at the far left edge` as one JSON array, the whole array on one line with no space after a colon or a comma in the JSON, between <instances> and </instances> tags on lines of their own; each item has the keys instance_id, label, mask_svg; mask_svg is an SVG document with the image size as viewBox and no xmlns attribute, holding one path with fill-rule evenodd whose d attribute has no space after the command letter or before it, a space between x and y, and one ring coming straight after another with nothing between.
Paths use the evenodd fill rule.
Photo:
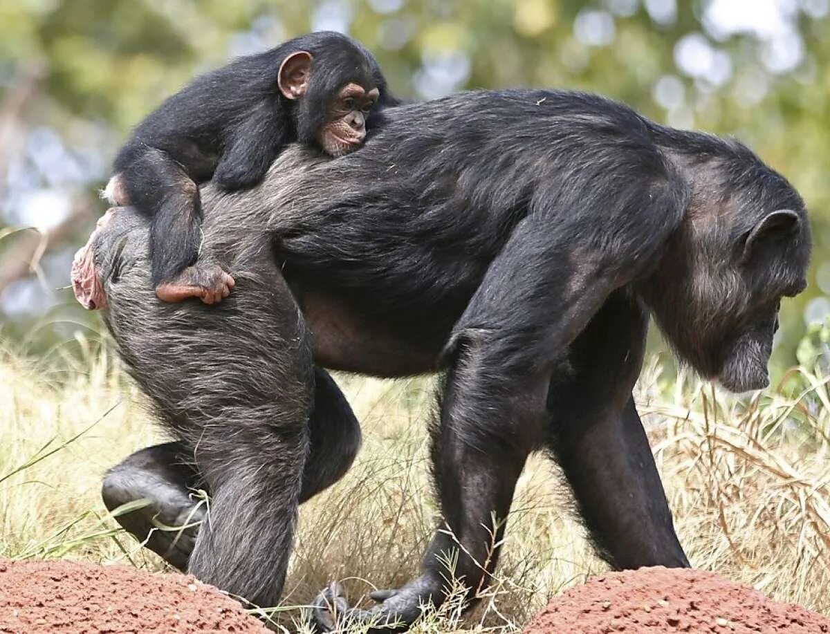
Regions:
<instances>
[{"instance_id":1,"label":"upper blurred brownish branch at the far left edge","mask_svg":"<svg viewBox=\"0 0 830 634\"><path fill-rule=\"evenodd\" d=\"M29 62L23 66L17 84L8 91L6 99L0 105L0 198L5 193L8 166L25 139L23 129L45 76L45 63Z\"/></svg>"}]
</instances>

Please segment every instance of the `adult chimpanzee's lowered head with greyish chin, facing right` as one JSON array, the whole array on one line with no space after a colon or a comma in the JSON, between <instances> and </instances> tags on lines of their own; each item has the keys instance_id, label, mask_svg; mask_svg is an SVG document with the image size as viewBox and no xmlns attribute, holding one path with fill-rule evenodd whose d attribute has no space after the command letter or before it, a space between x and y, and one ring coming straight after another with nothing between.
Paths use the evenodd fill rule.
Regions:
<instances>
[{"instance_id":1,"label":"adult chimpanzee's lowered head with greyish chin, facing right","mask_svg":"<svg viewBox=\"0 0 830 634\"><path fill-rule=\"evenodd\" d=\"M734 392L764 388L783 297L807 285L803 200L749 149L676 155L691 203L647 300L679 356ZM697 155L700 157L700 154Z\"/></svg>"}]
</instances>

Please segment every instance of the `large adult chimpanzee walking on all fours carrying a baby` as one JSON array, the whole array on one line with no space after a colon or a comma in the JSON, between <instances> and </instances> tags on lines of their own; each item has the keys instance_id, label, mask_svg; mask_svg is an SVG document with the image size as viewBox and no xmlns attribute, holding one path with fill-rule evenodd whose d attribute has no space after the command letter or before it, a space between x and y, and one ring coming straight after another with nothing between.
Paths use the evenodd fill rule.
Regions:
<instances>
[{"instance_id":1,"label":"large adult chimpanzee walking on all fours carrying a baby","mask_svg":"<svg viewBox=\"0 0 830 634\"><path fill-rule=\"evenodd\" d=\"M445 527L461 544L456 573L486 583L491 515L505 518L536 450L562 466L614 568L688 565L632 386L652 314L702 375L736 391L768 382L779 301L804 288L810 234L798 193L749 149L593 95L474 92L388 110L360 152L292 148L260 188L207 192L204 252L240 280L218 308L148 295L140 226L113 222L87 250L121 354L179 439L108 475L110 505L155 500L130 530L186 515L201 479L212 503L188 569L278 599L301 491L334 480L357 444L321 371L325 416L305 427L311 353L284 275L315 363L443 373L440 529L421 576L352 617L406 625L440 603L436 555L456 544ZM333 471L307 484L324 452Z\"/></svg>"}]
</instances>

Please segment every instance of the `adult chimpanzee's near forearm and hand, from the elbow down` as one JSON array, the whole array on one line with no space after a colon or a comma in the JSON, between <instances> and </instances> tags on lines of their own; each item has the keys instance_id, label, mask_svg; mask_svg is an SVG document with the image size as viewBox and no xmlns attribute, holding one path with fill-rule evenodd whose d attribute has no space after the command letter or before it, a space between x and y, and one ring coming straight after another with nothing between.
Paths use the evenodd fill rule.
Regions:
<instances>
[{"instance_id":1,"label":"adult chimpanzee's near forearm and hand, from the elbow down","mask_svg":"<svg viewBox=\"0 0 830 634\"><path fill-rule=\"evenodd\" d=\"M500 368L510 365L510 339L496 330L462 333L444 380L440 422L432 427L432 465L441 501L442 524L422 562L420 577L369 611L347 612L348 620L373 622L388 632L392 623L408 627L426 602L440 605L449 578L485 588L498 563L505 519L516 480L530 451L544 440L544 398L549 369L520 367L505 382ZM454 568L447 561L457 557ZM334 584L317 599L317 627L335 627L330 607L346 605Z\"/></svg>"}]
</instances>

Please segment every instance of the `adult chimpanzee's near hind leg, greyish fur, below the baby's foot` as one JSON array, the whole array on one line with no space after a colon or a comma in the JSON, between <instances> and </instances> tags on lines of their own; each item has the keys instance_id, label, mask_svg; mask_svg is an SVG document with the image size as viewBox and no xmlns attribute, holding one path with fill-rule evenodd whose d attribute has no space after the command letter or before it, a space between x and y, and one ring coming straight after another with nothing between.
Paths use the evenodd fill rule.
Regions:
<instances>
[{"instance_id":1,"label":"adult chimpanzee's near hind leg, greyish fur, below the baby's foot","mask_svg":"<svg viewBox=\"0 0 830 634\"><path fill-rule=\"evenodd\" d=\"M235 263L238 292L214 307L156 300L137 252L125 247L105 318L211 495L188 572L276 605L309 451L314 366L304 319L266 249Z\"/></svg>"}]
</instances>

